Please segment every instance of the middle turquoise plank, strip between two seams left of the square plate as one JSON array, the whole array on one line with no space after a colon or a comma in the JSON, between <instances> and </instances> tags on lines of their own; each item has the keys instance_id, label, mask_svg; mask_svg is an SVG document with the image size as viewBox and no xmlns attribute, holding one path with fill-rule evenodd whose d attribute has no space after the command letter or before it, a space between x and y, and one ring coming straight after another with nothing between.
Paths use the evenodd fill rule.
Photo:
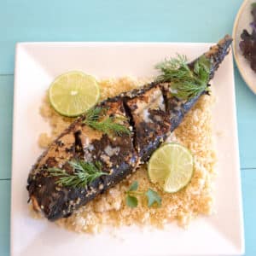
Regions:
<instances>
[{"instance_id":1,"label":"middle turquoise plank, strip between two seams left of the square plate","mask_svg":"<svg viewBox=\"0 0 256 256\"><path fill-rule=\"evenodd\" d=\"M0 179L11 176L13 90L13 76L0 76Z\"/></svg>"}]
</instances>

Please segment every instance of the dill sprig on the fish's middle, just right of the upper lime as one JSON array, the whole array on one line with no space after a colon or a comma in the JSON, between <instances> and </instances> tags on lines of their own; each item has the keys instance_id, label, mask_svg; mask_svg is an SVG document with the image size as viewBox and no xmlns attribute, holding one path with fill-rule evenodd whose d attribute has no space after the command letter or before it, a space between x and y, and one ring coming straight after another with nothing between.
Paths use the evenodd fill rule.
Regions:
<instances>
[{"instance_id":1,"label":"dill sprig on the fish's middle, just right of the upper lime","mask_svg":"<svg viewBox=\"0 0 256 256\"><path fill-rule=\"evenodd\" d=\"M116 121L122 119L122 117L111 117L108 116L105 119L102 119L106 113L106 108L96 107L91 108L86 113L86 118L84 119L84 124L89 125L91 128L102 131L106 134L115 133L120 136L121 134L130 134L131 131L125 126L117 123ZM102 119L102 120L99 120Z\"/></svg>"}]
</instances>

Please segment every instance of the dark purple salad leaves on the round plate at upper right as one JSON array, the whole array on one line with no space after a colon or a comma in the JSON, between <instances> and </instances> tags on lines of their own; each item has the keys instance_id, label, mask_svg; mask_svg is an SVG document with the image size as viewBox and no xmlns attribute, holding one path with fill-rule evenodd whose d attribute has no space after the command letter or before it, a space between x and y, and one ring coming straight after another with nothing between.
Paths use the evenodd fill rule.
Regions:
<instances>
[{"instance_id":1,"label":"dark purple salad leaves on the round plate at upper right","mask_svg":"<svg viewBox=\"0 0 256 256\"><path fill-rule=\"evenodd\" d=\"M241 33L241 42L239 44L242 55L250 61L250 66L254 72L256 72L256 3L252 4L253 21L250 26L253 28L253 32L250 34L244 29Z\"/></svg>"}]
</instances>

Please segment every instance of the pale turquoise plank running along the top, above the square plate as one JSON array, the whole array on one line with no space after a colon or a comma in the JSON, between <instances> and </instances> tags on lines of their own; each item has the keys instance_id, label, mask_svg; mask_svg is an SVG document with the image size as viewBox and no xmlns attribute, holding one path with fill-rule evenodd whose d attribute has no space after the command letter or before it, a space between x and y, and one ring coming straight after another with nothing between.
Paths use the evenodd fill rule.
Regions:
<instances>
[{"instance_id":1,"label":"pale turquoise plank running along the top, above the square plate","mask_svg":"<svg viewBox=\"0 0 256 256\"><path fill-rule=\"evenodd\" d=\"M215 42L232 32L241 2L3 1L0 73L13 73L21 41Z\"/></svg>"}]
</instances>

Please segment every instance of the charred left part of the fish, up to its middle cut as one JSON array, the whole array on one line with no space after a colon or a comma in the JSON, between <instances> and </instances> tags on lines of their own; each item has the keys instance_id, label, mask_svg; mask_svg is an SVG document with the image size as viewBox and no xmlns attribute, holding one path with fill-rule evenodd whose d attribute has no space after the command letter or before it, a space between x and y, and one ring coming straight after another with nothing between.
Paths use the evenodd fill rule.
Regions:
<instances>
[{"instance_id":1,"label":"charred left part of the fish, up to its middle cut","mask_svg":"<svg viewBox=\"0 0 256 256\"><path fill-rule=\"evenodd\" d=\"M123 102L103 102L101 107L108 107L107 115L119 114L125 117ZM57 138L49 147L48 154L39 159L40 163L28 177L27 189L32 204L36 210L44 212L49 220L70 216L75 209L119 183L137 166L138 157L133 147L132 133L122 137L108 137L106 134L90 131L83 124L83 119L76 121L71 129ZM130 127L127 120L124 122L124 125ZM55 148L56 154L62 153L61 158L52 156L52 148ZM57 177L51 177L47 168L58 167L72 172L68 160L73 159L90 162L98 160L102 163L102 171L108 175L96 178L85 188L58 186L55 183Z\"/></svg>"}]
</instances>

